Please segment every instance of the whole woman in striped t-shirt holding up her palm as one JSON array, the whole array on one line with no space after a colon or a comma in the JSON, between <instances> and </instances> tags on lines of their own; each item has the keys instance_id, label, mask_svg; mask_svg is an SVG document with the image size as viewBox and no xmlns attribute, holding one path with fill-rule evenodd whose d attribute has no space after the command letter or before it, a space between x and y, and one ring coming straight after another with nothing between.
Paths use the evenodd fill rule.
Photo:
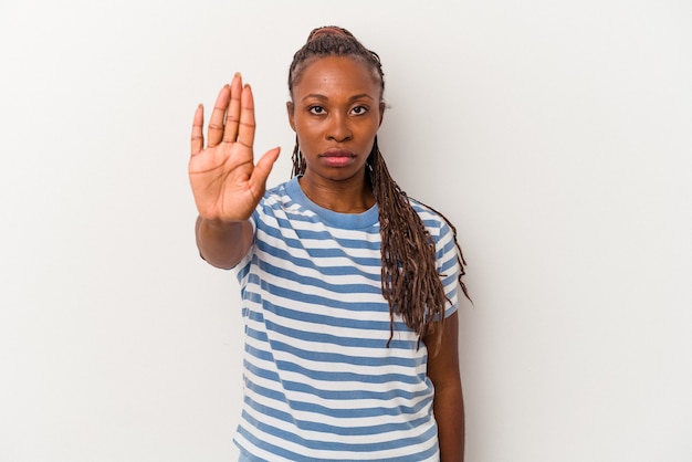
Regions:
<instances>
[{"instance_id":1,"label":"whole woman in striped t-shirt holding up her palm","mask_svg":"<svg viewBox=\"0 0 692 462\"><path fill-rule=\"evenodd\" d=\"M271 190L279 148L255 162L240 75L206 146L201 105L192 127L200 254L241 285L241 461L461 461L464 262L448 220L387 171L379 57L344 29L316 29L289 88L293 178Z\"/></svg>"}]
</instances>

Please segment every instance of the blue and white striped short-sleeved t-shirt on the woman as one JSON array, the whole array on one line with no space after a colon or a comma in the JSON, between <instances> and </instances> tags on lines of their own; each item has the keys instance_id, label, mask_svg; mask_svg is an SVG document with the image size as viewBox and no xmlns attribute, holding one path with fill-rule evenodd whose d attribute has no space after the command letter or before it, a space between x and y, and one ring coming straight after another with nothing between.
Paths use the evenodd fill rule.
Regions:
<instances>
[{"instance_id":1,"label":"blue and white striped short-sleeved t-shirt on the woman","mask_svg":"<svg viewBox=\"0 0 692 462\"><path fill-rule=\"evenodd\" d=\"M437 246L445 316L459 264L449 225L411 201ZM377 206L337 213L297 178L264 195L235 266L245 323L235 443L251 461L438 461L427 348L401 318L389 347Z\"/></svg>"}]
</instances>

